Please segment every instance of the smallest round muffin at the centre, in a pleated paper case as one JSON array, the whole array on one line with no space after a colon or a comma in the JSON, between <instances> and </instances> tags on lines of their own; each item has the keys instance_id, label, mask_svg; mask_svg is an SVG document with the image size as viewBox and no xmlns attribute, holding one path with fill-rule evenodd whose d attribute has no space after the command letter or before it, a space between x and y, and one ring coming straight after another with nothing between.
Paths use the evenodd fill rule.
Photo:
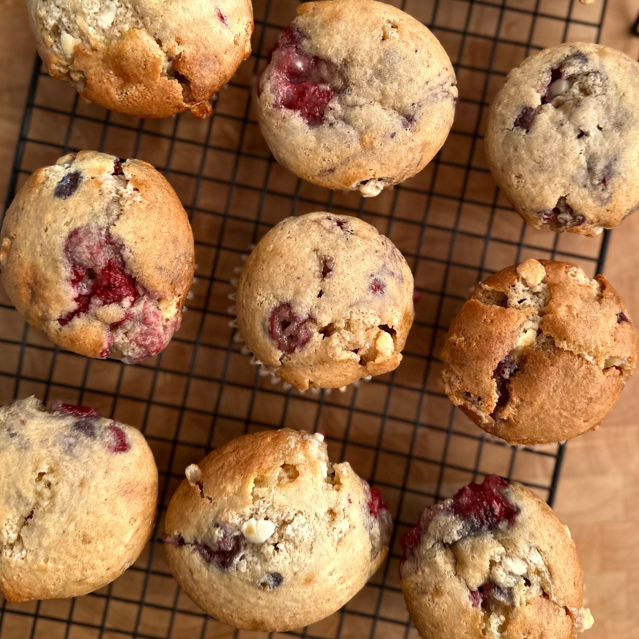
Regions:
<instances>
[{"instance_id":1,"label":"smallest round muffin at the centre, in a pleated paper case","mask_svg":"<svg viewBox=\"0 0 639 639\"><path fill-rule=\"evenodd\" d=\"M399 366L413 276L389 238L356 217L288 217L247 259L236 313L266 369L298 389L339 388Z\"/></svg>"}]
</instances>

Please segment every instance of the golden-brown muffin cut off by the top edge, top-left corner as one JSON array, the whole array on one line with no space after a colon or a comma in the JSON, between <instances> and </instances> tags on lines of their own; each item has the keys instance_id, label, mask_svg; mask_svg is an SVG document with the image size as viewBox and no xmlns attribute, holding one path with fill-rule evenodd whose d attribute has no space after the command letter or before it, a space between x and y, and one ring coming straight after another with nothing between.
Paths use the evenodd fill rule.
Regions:
<instances>
[{"instance_id":1,"label":"golden-brown muffin cut off by the top edge, top-left corner","mask_svg":"<svg viewBox=\"0 0 639 639\"><path fill-rule=\"evenodd\" d=\"M250 54L250 0L27 0L27 8L50 75L138 118L185 109L207 117L208 99Z\"/></svg>"}]
</instances>

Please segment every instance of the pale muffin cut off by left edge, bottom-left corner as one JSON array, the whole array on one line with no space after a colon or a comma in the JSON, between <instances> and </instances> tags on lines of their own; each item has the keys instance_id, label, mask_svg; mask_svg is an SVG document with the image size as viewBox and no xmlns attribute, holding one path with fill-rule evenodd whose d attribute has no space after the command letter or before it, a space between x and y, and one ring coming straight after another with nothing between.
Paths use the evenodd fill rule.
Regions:
<instances>
[{"instance_id":1,"label":"pale muffin cut off by left edge, bottom-left corner","mask_svg":"<svg viewBox=\"0 0 639 639\"><path fill-rule=\"evenodd\" d=\"M75 597L113 581L153 532L158 472L144 436L85 406L0 408L0 590Z\"/></svg>"}]
</instances>

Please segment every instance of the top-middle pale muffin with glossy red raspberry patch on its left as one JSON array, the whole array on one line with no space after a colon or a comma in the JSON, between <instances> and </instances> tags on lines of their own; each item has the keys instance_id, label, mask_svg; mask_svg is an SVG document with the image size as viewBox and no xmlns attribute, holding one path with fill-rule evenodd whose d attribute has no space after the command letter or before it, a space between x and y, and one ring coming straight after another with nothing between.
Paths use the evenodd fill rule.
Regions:
<instances>
[{"instance_id":1,"label":"top-middle pale muffin with glossy red raspberry patch on its left","mask_svg":"<svg viewBox=\"0 0 639 639\"><path fill-rule=\"evenodd\" d=\"M376 196L441 148L455 84L442 45L407 13L373 0L305 3L259 81L259 123L289 171Z\"/></svg>"}]
</instances>

